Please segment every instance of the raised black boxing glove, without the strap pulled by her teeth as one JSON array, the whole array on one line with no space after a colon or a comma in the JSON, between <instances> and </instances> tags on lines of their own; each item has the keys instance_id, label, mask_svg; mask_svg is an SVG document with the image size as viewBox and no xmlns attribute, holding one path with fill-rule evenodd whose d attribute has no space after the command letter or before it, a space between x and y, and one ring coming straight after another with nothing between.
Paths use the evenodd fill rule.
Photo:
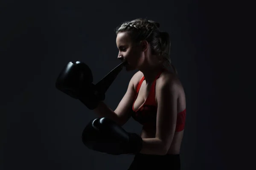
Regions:
<instances>
[{"instance_id":1,"label":"raised black boxing glove, without the strap pulled by her teeth","mask_svg":"<svg viewBox=\"0 0 256 170\"><path fill-rule=\"evenodd\" d=\"M83 62L68 62L59 74L55 86L65 94L79 99L88 109L93 110L105 94L97 92L90 68Z\"/></svg>"}]
</instances>

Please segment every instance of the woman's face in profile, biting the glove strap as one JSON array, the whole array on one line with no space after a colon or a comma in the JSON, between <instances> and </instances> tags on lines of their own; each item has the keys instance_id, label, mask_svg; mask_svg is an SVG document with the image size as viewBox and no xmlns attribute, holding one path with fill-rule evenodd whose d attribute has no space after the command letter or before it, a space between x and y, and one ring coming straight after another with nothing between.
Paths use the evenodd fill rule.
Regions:
<instances>
[{"instance_id":1,"label":"woman's face in profile, biting the glove strap","mask_svg":"<svg viewBox=\"0 0 256 170\"><path fill-rule=\"evenodd\" d=\"M131 41L129 34L119 32L116 36L116 46L119 50L118 59L126 60L127 71L137 69L143 63L143 50L139 44Z\"/></svg>"}]
</instances>

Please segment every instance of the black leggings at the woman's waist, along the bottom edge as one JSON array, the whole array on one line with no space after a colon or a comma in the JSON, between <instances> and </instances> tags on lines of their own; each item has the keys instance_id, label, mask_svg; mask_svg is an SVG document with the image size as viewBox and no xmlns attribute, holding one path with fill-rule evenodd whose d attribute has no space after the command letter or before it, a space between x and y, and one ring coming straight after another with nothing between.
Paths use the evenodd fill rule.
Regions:
<instances>
[{"instance_id":1,"label":"black leggings at the woman's waist, along the bottom edge","mask_svg":"<svg viewBox=\"0 0 256 170\"><path fill-rule=\"evenodd\" d=\"M157 170L180 170L180 155L167 154L160 156L139 153L134 157L134 161L131 163L128 170L145 170L147 168Z\"/></svg>"}]
</instances>

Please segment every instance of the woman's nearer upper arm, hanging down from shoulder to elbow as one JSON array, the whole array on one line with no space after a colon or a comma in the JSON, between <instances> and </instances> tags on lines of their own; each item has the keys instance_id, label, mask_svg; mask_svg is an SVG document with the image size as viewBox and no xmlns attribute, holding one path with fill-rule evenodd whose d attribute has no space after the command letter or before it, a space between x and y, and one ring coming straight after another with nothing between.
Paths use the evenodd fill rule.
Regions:
<instances>
[{"instance_id":1,"label":"woman's nearer upper arm, hanging down from shoulder to elbow","mask_svg":"<svg viewBox=\"0 0 256 170\"><path fill-rule=\"evenodd\" d=\"M177 121L177 99L179 88L175 80L162 79L157 94L157 129L156 138L163 142L164 150L168 150L175 134Z\"/></svg>"}]
</instances>

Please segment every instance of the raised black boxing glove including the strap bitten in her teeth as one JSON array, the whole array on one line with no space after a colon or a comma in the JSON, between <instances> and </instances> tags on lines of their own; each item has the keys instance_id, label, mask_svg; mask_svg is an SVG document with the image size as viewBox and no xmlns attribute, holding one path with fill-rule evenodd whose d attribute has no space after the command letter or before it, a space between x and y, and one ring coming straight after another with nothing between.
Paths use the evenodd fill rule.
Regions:
<instances>
[{"instance_id":1,"label":"raised black boxing glove including the strap bitten in her teeth","mask_svg":"<svg viewBox=\"0 0 256 170\"><path fill-rule=\"evenodd\" d=\"M65 94L79 99L90 110L95 109L100 101L105 100L105 92L108 90L116 76L122 70L126 62L122 62L96 85L93 82L93 74L90 68L83 62L69 62L59 74L56 80L56 88Z\"/></svg>"}]
</instances>

